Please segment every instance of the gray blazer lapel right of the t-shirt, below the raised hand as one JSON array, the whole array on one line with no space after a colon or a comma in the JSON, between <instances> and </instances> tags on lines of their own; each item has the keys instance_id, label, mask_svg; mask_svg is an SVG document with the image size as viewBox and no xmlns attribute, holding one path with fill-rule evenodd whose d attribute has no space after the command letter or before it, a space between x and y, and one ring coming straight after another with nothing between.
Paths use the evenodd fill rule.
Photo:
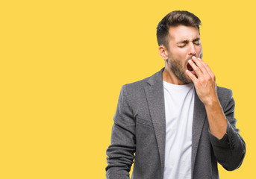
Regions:
<instances>
[{"instance_id":1,"label":"gray blazer lapel right of the t-shirt, below the raised hand","mask_svg":"<svg viewBox=\"0 0 256 179\"><path fill-rule=\"evenodd\" d=\"M193 127L192 127L192 158L191 158L191 173L193 178L194 166L196 161L197 148L199 139L202 134L202 129L205 124L206 111L205 105L200 100L195 92L194 114L193 114Z\"/></svg>"}]
</instances>

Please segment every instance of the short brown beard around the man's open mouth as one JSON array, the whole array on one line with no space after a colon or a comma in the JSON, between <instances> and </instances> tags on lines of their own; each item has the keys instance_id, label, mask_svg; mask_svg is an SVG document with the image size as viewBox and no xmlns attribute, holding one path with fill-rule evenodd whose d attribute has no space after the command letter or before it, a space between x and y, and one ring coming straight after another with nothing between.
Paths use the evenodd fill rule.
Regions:
<instances>
[{"instance_id":1,"label":"short brown beard around the man's open mouth","mask_svg":"<svg viewBox=\"0 0 256 179\"><path fill-rule=\"evenodd\" d=\"M192 57L186 60L185 64L187 64L188 60L190 60ZM172 73L180 80L183 81L185 84L191 84L193 81L187 77L186 75L186 69L187 66L182 66L181 60L173 60L170 57L168 58L168 65L171 69Z\"/></svg>"}]
</instances>

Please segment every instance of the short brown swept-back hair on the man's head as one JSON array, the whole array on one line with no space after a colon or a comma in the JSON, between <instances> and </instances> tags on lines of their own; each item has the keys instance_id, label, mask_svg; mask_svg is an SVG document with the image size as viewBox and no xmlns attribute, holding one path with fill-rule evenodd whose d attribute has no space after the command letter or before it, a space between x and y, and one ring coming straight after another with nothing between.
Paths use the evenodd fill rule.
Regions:
<instances>
[{"instance_id":1,"label":"short brown swept-back hair on the man's head","mask_svg":"<svg viewBox=\"0 0 256 179\"><path fill-rule=\"evenodd\" d=\"M197 16L185 10L175 10L168 13L157 25L157 43L159 46L164 45L168 48L169 27L176 27L178 25L191 26L199 29L199 25L202 24Z\"/></svg>"}]
</instances>

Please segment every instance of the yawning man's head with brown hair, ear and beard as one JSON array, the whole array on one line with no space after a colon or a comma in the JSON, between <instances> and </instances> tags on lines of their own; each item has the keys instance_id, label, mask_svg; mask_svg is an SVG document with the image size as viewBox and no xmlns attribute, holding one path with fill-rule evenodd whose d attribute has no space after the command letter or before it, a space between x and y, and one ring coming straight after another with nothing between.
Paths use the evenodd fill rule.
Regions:
<instances>
[{"instance_id":1,"label":"yawning man's head with brown hair, ear and beard","mask_svg":"<svg viewBox=\"0 0 256 179\"><path fill-rule=\"evenodd\" d=\"M199 25L200 19L187 11L172 11L157 25L160 56L171 73L186 84L192 82L185 73L186 69L193 70L188 60L193 56L202 58Z\"/></svg>"}]
</instances>

